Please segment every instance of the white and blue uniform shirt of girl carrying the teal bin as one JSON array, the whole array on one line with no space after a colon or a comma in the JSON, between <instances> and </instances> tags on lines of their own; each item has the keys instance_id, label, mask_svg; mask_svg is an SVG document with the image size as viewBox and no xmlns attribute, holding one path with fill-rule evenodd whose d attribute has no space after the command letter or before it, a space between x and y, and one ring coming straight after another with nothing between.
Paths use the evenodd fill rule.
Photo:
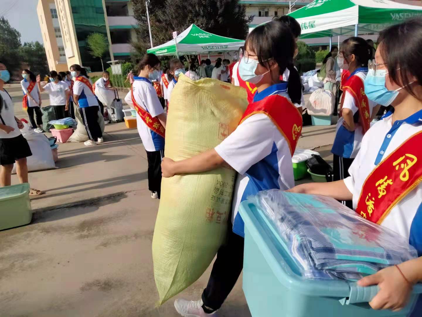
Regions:
<instances>
[{"instance_id":1,"label":"white and blue uniform shirt of girl carrying the teal bin","mask_svg":"<svg viewBox=\"0 0 422 317\"><path fill-rule=\"evenodd\" d=\"M413 134L422 131L422 110L392 124L392 112L375 123L362 139L359 153L349 168L350 177L344 179L353 194L353 208L362 191L366 178L384 158ZM419 159L419 158L418 158ZM392 208L381 226L409 239L419 256L422 256L422 183Z\"/></svg>"}]
</instances>

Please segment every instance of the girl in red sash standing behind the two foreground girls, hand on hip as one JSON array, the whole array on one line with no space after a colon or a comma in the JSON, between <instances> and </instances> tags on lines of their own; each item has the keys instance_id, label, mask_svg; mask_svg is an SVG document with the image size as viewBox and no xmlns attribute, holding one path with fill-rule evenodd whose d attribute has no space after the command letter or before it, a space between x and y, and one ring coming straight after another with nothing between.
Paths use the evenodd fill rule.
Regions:
<instances>
[{"instance_id":1,"label":"girl in red sash standing behind the two foreground girls, hand on hip","mask_svg":"<svg viewBox=\"0 0 422 317\"><path fill-rule=\"evenodd\" d=\"M362 137L368 131L371 113L376 105L365 96L363 82L368 73L371 49L363 38L348 38L341 44L338 66L349 71L344 78L339 119L331 152L334 180L349 176L348 170L360 150ZM343 202L352 208L352 201Z\"/></svg>"}]
</instances>

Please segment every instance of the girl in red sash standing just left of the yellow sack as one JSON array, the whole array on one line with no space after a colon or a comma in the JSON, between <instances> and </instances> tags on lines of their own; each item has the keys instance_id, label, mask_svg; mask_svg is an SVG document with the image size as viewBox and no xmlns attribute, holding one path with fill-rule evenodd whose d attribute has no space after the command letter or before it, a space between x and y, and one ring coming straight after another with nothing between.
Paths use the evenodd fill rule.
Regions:
<instances>
[{"instance_id":1,"label":"girl in red sash standing just left of the yellow sack","mask_svg":"<svg viewBox=\"0 0 422 317\"><path fill-rule=\"evenodd\" d=\"M146 54L138 64L139 75L124 100L136 110L138 133L148 158L148 187L152 198L160 199L161 160L164 157L164 135L167 115L161 106L157 91L151 84L160 77L160 60Z\"/></svg>"}]
</instances>

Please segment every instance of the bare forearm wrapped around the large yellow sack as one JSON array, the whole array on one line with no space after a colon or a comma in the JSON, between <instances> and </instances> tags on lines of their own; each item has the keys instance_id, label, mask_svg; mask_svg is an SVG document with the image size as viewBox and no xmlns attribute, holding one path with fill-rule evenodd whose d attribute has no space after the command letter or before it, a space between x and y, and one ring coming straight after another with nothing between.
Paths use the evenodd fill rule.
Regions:
<instances>
[{"instance_id":1,"label":"bare forearm wrapped around the large yellow sack","mask_svg":"<svg viewBox=\"0 0 422 317\"><path fill-rule=\"evenodd\" d=\"M192 158L178 162L165 157L161 163L161 172L163 177L172 177L176 174L206 172L211 169L216 169L224 163L225 161L219 156L216 150L211 149Z\"/></svg>"}]
</instances>

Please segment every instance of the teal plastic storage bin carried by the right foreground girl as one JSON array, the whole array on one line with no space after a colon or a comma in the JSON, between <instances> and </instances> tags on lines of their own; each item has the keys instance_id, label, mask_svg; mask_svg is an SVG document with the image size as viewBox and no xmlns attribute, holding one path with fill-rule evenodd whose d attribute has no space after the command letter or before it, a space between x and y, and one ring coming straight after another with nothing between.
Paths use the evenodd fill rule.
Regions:
<instances>
[{"instance_id":1,"label":"teal plastic storage bin carried by the right foreground girl","mask_svg":"<svg viewBox=\"0 0 422 317\"><path fill-rule=\"evenodd\" d=\"M252 317L405 317L422 293L416 285L400 312L373 310L368 301L377 286L305 279L265 213L247 200L239 212L245 222L243 292Z\"/></svg>"}]
</instances>

